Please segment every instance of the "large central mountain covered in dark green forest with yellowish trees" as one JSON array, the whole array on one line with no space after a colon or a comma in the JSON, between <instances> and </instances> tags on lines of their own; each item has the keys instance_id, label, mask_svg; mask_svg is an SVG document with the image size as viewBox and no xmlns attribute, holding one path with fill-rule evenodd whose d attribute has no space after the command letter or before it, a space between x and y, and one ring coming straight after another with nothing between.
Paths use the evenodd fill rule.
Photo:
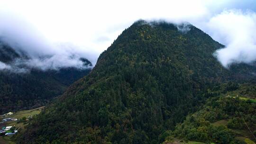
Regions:
<instances>
[{"instance_id":1,"label":"large central mountain covered in dark green forest with yellowish trees","mask_svg":"<svg viewBox=\"0 0 256 144\"><path fill-rule=\"evenodd\" d=\"M254 66L221 66L213 56L221 47L192 25L137 21L100 55L87 76L27 126L17 142L162 143L167 130L201 108L210 97L208 89L227 81L254 81Z\"/></svg>"}]
</instances>

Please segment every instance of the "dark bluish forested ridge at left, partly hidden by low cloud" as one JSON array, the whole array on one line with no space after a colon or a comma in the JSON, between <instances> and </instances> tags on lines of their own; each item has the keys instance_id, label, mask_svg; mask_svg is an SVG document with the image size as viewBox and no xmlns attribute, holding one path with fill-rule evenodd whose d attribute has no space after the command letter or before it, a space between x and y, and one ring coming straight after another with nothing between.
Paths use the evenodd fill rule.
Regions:
<instances>
[{"instance_id":1,"label":"dark bluish forested ridge at left, partly hidden by low cloud","mask_svg":"<svg viewBox=\"0 0 256 144\"><path fill-rule=\"evenodd\" d=\"M17 53L9 45L0 42L0 67L1 63L11 65L17 58L29 59L26 54ZM81 61L85 66L91 65L87 59ZM78 70L70 67L59 71L43 72L32 69L25 73L15 72L22 68L24 68L22 65L16 67L17 70L0 68L0 114L44 106L50 99L63 94L74 81L91 71L91 69Z\"/></svg>"}]
</instances>

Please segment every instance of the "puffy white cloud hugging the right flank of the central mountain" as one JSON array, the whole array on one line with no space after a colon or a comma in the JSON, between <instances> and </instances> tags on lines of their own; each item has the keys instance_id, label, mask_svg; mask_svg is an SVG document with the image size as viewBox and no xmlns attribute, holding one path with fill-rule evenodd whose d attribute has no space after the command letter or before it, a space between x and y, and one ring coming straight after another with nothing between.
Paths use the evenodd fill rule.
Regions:
<instances>
[{"instance_id":1,"label":"puffy white cloud hugging the right flank of the central mountain","mask_svg":"<svg viewBox=\"0 0 256 144\"><path fill-rule=\"evenodd\" d=\"M255 12L226 10L211 18L207 27L214 39L225 44L225 48L215 53L223 66L256 61Z\"/></svg>"}]
</instances>

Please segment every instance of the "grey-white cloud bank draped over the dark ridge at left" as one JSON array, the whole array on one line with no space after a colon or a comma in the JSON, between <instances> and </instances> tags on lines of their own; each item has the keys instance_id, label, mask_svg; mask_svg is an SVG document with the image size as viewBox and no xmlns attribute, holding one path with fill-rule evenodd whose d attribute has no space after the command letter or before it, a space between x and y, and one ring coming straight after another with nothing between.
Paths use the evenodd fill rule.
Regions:
<instances>
[{"instance_id":1,"label":"grey-white cloud bank draped over the dark ridge at left","mask_svg":"<svg viewBox=\"0 0 256 144\"><path fill-rule=\"evenodd\" d=\"M29 72L31 69L59 70L88 68L81 58L93 59L93 50L82 49L72 43L53 43L33 25L12 15L0 15L0 44L9 45L20 57L9 63L0 62L0 70ZM2 46L0 47L2 48Z\"/></svg>"}]
</instances>

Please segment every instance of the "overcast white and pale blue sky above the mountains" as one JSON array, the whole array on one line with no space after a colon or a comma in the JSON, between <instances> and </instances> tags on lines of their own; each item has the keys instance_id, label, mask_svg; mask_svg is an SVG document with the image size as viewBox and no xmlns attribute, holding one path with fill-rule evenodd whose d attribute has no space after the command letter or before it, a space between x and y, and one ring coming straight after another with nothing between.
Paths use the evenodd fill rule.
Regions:
<instances>
[{"instance_id":1,"label":"overcast white and pale blue sky above the mountains","mask_svg":"<svg viewBox=\"0 0 256 144\"><path fill-rule=\"evenodd\" d=\"M80 57L95 64L138 19L187 21L226 45L215 55L228 67L256 60L255 12L256 0L1 0L0 37L27 52L28 65L58 69Z\"/></svg>"}]
</instances>

